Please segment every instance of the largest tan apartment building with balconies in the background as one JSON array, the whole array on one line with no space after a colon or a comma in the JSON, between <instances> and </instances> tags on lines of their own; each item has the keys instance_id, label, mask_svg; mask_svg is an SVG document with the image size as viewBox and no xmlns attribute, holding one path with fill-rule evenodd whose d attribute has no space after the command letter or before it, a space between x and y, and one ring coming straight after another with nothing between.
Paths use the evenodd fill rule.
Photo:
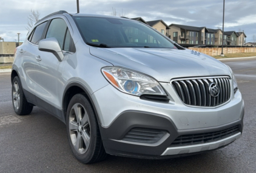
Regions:
<instances>
[{"instance_id":1,"label":"largest tan apartment building with balconies in the background","mask_svg":"<svg viewBox=\"0 0 256 173\"><path fill-rule=\"evenodd\" d=\"M206 27L170 24L167 34L178 44L204 44Z\"/></svg>"}]
</instances>

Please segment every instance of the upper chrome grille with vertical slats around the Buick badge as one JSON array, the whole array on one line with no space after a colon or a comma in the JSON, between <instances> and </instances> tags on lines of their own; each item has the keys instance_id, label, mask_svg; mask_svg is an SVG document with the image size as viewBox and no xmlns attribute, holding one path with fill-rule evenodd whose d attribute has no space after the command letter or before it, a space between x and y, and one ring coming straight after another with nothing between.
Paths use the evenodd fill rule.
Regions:
<instances>
[{"instance_id":1,"label":"upper chrome grille with vertical slats around the Buick badge","mask_svg":"<svg viewBox=\"0 0 256 173\"><path fill-rule=\"evenodd\" d=\"M217 83L220 93L212 97L209 85ZM175 80L172 85L186 105L192 106L218 106L227 102L231 97L231 85L228 77Z\"/></svg>"}]
</instances>

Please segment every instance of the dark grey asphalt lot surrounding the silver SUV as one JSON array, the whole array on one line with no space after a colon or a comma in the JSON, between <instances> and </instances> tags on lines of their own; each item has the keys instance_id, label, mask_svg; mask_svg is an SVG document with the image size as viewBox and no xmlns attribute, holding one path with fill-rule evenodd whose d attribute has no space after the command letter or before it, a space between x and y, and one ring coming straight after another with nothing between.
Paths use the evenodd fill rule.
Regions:
<instances>
[{"instance_id":1,"label":"dark grey asphalt lot surrounding the silver SUV","mask_svg":"<svg viewBox=\"0 0 256 173\"><path fill-rule=\"evenodd\" d=\"M10 73L0 73L0 172L256 172L256 58L221 60L235 73L245 103L243 135L225 148L167 160L109 155L84 165L73 157L64 123L34 107L16 116Z\"/></svg>"}]
</instances>

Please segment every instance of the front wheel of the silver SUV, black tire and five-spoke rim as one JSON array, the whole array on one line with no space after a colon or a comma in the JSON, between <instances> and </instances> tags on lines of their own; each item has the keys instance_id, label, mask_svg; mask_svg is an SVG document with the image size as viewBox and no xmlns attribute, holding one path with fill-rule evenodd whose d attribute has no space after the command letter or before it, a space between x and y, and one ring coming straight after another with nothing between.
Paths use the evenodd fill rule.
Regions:
<instances>
[{"instance_id":1,"label":"front wheel of the silver SUV, black tire and five-spoke rim","mask_svg":"<svg viewBox=\"0 0 256 173\"><path fill-rule=\"evenodd\" d=\"M67 134L73 154L82 163L106 158L98 122L86 94L76 94L67 108Z\"/></svg>"}]
</instances>

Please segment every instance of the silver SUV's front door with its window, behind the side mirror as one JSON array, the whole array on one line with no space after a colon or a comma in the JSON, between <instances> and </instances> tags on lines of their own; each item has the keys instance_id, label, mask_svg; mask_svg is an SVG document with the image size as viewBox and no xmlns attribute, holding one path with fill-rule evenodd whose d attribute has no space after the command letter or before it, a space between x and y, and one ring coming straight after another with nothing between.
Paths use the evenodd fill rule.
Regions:
<instances>
[{"instance_id":1,"label":"silver SUV's front door with its window, behind the side mirror","mask_svg":"<svg viewBox=\"0 0 256 173\"><path fill-rule=\"evenodd\" d=\"M71 52L73 45L70 29L62 18L55 18L50 21L45 33L45 38L56 38L64 53L64 59L60 62L53 53L39 51L39 60L36 69L36 101L38 105L46 108L50 113L61 117L62 100L60 88L64 85L62 68ZM72 44L71 44L72 43Z\"/></svg>"}]
</instances>

